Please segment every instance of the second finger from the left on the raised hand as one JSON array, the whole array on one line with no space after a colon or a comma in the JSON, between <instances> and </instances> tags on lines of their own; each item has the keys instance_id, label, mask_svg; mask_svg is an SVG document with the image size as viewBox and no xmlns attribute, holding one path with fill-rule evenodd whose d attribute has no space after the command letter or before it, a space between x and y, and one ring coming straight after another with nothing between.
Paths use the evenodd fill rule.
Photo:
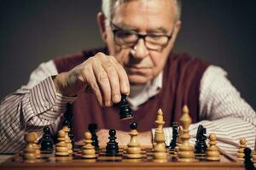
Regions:
<instances>
[{"instance_id":1,"label":"second finger from the left on the raised hand","mask_svg":"<svg viewBox=\"0 0 256 170\"><path fill-rule=\"evenodd\" d=\"M104 105L106 106L112 105L111 88L108 80L108 74L103 69L100 60L98 59L93 60L92 69L96 77L96 82L98 83L98 86L102 91Z\"/></svg>"}]
</instances>

